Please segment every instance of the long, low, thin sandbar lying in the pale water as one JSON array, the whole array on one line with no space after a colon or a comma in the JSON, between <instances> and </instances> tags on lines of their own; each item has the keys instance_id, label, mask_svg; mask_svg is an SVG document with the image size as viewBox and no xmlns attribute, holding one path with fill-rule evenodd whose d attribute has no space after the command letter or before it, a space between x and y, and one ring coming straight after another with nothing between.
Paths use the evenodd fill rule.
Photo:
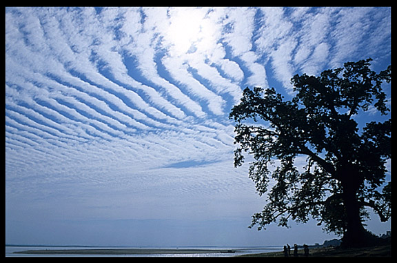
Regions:
<instances>
[{"instance_id":1,"label":"long, low, thin sandbar lying in the pale water","mask_svg":"<svg viewBox=\"0 0 397 263\"><path fill-rule=\"evenodd\" d=\"M15 254L35 255L147 255L147 254L202 254L234 253L229 249L39 249L17 251Z\"/></svg>"}]
</instances>

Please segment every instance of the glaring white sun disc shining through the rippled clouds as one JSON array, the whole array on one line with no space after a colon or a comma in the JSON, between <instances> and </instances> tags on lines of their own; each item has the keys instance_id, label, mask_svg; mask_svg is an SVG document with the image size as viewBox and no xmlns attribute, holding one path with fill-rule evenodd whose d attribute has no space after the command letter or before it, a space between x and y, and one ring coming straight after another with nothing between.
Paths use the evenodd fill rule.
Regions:
<instances>
[{"instance_id":1,"label":"glaring white sun disc shining through the rippled clouds","mask_svg":"<svg viewBox=\"0 0 397 263\"><path fill-rule=\"evenodd\" d=\"M170 12L166 38L176 54L205 51L212 41L213 26L201 8L175 8Z\"/></svg>"}]
</instances>

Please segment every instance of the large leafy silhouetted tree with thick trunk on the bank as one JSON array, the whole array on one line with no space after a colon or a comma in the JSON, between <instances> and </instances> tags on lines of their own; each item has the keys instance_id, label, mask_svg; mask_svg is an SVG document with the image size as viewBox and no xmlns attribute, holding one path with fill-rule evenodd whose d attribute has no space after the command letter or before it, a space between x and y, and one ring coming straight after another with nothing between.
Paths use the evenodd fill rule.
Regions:
<instances>
[{"instance_id":1,"label":"large leafy silhouetted tree with thick trunk on the bank","mask_svg":"<svg viewBox=\"0 0 397 263\"><path fill-rule=\"evenodd\" d=\"M288 226L312 215L326 231L342 234L344 246L364 246L371 237L363 226L365 207L382 222L389 219L391 184L380 187L391 158L391 119L362 128L356 121L367 110L389 112L381 84L391 81L391 66L376 73L370 61L345 63L319 77L295 75L290 101L274 88L245 88L230 113L239 145L234 166L243 164L245 152L253 155L250 178L259 195L268 192L250 227ZM294 160L302 155L300 170Z\"/></svg>"}]
</instances>

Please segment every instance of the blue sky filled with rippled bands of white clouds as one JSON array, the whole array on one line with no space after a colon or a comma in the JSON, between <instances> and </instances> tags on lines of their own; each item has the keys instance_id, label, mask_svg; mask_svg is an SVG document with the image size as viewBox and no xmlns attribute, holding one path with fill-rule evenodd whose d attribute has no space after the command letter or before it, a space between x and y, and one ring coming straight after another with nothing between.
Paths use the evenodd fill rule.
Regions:
<instances>
[{"instance_id":1,"label":"blue sky filled with rippled bands of white clouds","mask_svg":"<svg viewBox=\"0 0 397 263\"><path fill-rule=\"evenodd\" d=\"M295 74L368 57L385 70L391 8L5 12L6 243L267 246L336 237L314 221L247 227L265 197L248 165L234 168L228 116L247 86L291 99ZM371 109L358 117L381 119ZM371 216L367 228L385 233L390 222Z\"/></svg>"}]
</instances>

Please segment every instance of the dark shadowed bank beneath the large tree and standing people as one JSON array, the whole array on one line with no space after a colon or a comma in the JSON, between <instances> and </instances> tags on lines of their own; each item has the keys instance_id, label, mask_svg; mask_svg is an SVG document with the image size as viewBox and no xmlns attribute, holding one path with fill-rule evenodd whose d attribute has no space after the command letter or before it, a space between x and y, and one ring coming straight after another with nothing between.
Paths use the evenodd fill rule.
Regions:
<instances>
[{"instance_id":1,"label":"dark shadowed bank beneath the large tree and standing people","mask_svg":"<svg viewBox=\"0 0 397 263\"><path fill-rule=\"evenodd\" d=\"M291 256L293 256L291 254ZM303 257L303 250L298 257ZM283 252L241 255L241 257L284 257ZM318 248L310 249L309 257L391 257L391 244L359 249Z\"/></svg>"}]
</instances>

